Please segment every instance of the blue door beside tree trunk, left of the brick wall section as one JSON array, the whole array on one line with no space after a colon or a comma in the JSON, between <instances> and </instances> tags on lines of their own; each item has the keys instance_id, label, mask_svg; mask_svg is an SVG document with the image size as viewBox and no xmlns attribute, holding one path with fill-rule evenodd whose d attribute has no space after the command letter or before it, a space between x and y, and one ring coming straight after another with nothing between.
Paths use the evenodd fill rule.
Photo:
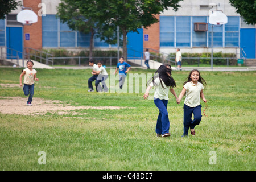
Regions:
<instances>
[{"instance_id":1,"label":"blue door beside tree trunk, left of the brick wall section","mask_svg":"<svg viewBox=\"0 0 256 182\"><path fill-rule=\"evenodd\" d=\"M143 58L143 28L138 28L137 32L127 34L127 57L128 59Z\"/></svg>"}]
</instances>

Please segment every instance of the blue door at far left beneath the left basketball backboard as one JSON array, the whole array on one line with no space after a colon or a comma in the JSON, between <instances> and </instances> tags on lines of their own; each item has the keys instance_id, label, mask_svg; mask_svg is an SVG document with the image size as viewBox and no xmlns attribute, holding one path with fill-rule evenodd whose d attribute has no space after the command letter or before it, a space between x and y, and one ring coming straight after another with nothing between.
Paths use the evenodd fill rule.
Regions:
<instances>
[{"instance_id":1,"label":"blue door at far left beneath the left basketball backboard","mask_svg":"<svg viewBox=\"0 0 256 182\"><path fill-rule=\"evenodd\" d=\"M22 27L6 27L6 46L10 48L7 49L7 58L15 56L13 58L16 59L18 55L19 59L22 59Z\"/></svg>"}]
</instances>

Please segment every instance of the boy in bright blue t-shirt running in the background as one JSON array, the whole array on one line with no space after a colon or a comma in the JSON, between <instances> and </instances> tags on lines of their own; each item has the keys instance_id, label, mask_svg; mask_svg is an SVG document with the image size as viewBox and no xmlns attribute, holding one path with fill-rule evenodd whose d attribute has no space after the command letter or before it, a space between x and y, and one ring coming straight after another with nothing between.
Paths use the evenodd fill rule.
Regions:
<instances>
[{"instance_id":1,"label":"boy in bright blue t-shirt running in the background","mask_svg":"<svg viewBox=\"0 0 256 182\"><path fill-rule=\"evenodd\" d=\"M131 66L130 64L125 62L123 57L119 58L119 63L117 63L117 68L115 68L115 73L117 73L117 69L119 69L119 87L123 88L123 83L125 82L126 73L129 72ZM114 73L114 74L115 74Z\"/></svg>"}]
</instances>

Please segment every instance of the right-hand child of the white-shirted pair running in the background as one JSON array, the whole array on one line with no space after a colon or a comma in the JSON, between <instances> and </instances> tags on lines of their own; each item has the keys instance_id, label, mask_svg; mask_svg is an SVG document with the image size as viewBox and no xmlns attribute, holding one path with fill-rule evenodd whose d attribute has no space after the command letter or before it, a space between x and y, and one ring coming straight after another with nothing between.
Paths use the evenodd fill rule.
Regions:
<instances>
[{"instance_id":1,"label":"right-hand child of the white-shirted pair running in the background","mask_svg":"<svg viewBox=\"0 0 256 182\"><path fill-rule=\"evenodd\" d=\"M95 86L96 86L96 91L97 92L108 92L108 86L106 85L106 79L108 79L108 72L106 72L106 69L104 67L102 67L101 61L98 61L97 63L98 66L98 71L94 71L98 77L97 80L95 81ZM100 82L102 84L102 86L100 85ZM102 90L103 89L103 90Z\"/></svg>"}]
</instances>

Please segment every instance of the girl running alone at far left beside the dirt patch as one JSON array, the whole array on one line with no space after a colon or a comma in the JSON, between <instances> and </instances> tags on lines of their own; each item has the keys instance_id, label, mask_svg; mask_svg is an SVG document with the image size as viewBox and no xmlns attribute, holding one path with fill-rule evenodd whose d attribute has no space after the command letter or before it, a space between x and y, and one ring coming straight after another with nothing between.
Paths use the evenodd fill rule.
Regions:
<instances>
[{"instance_id":1,"label":"girl running alone at far left beside the dirt patch","mask_svg":"<svg viewBox=\"0 0 256 182\"><path fill-rule=\"evenodd\" d=\"M34 96L35 81L39 81L36 78L36 70L33 69L34 63L31 60L27 61L27 68L23 69L19 76L19 86L22 86L22 77L24 76L23 92L25 96L28 96L27 106L32 106L32 98Z\"/></svg>"}]
</instances>

